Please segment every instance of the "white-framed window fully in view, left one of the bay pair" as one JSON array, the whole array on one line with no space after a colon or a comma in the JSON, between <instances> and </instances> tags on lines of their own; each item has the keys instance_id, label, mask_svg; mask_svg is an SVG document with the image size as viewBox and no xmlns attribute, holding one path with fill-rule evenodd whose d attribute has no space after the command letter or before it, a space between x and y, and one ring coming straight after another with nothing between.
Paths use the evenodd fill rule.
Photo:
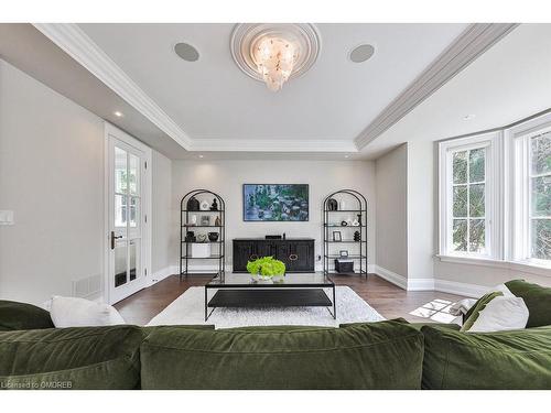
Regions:
<instances>
[{"instance_id":1,"label":"white-framed window fully in view, left one of the bay pair","mask_svg":"<svg viewBox=\"0 0 551 413\"><path fill-rule=\"evenodd\" d=\"M440 254L500 258L500 132L440 143Z\"/></svg>"}]
</instances>

